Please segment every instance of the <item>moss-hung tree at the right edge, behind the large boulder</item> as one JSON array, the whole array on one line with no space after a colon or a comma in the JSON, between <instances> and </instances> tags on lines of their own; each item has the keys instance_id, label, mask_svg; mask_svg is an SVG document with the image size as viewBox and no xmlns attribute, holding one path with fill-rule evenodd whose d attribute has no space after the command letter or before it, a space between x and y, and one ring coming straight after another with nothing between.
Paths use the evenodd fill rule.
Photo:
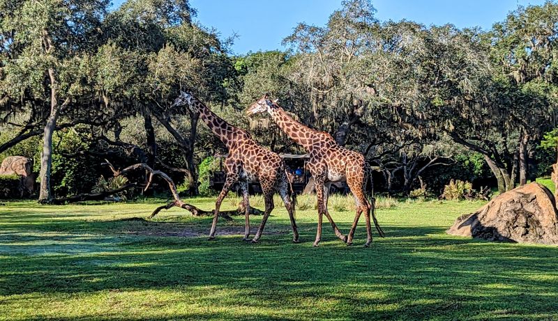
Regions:
<instances>
[{"instance_id":1,"label":"moss-hung tree at the right edge, behind the large boulder","mask_svg":"<svg viewBox=\"0 0 558 321\"><path fill-rule=\"evenodd\" d=\"M519 130L519 183L525 185L528 149L552 129L557 112L558 4L519 7L495 24L490 36L497 81L517 92L508 118Z\"/></svg>"}]
</instances>

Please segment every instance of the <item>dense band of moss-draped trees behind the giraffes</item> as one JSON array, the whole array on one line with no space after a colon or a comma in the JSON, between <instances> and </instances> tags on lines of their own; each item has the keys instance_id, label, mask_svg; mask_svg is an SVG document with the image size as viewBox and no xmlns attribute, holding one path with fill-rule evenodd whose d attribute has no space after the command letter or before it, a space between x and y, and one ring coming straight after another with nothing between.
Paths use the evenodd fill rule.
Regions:
<instances>
[{"instance_id":1,"label":"dense band of moss-draped trees behind the giraffes","mask_svg":"<svg viewBox=\"0 0 558 321\"><path fill-rule=\"evenodd\" d=\"M91 191L111 175L105 158L208 194L207 157L226 151L198 115L170 109L180 89L272 150L302 152L267 118L243 116L271 92L362 152L375 191L389 194L409 194L419 177L434 196L451 179L502 192L555 162L555 1L490 30L382 22L370 1L344 1L324 26L295 26L286 52L243 56L194 23L188 1L43 2L0 1L0 160L32 158L43 201Z\"/></svg>"}]
</instances>

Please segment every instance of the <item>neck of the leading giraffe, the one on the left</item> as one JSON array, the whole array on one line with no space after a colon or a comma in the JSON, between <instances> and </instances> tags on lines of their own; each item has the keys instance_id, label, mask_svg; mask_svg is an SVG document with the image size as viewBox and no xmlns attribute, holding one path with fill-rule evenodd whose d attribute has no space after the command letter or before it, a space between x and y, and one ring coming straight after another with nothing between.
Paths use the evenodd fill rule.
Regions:
<instances>
[{"instance_id":1,"label":"neck of the leading giraffe, the one on the left","mask_svg":"<svg viewBox=\"0 0 558 321\"><path fill-rule=\"evenodd\" d=\"M223 118L217 116L216 113L213 113L211 109L206 107L206 105L199 100L195 100L194 109L199 112L199 118L202 119L220 141L223 141L228 150L231 150L232 147L241 141L239 136L244 137L248 135L243 130L234 127L223 120Z\"/></svg>"}]
</instances>

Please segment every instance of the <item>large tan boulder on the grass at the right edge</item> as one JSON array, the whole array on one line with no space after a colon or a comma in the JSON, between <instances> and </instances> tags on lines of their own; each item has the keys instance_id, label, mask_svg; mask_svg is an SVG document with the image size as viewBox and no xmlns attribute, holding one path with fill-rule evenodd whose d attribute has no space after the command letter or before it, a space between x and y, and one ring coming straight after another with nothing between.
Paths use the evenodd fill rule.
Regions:
<instances>
[{"instance_id":1,"label":"large tan boulder on the grass at the right edge","mask_svg":"<svg viewBox=\"0 0 558 321\"><path fill-rule=\"evenodd\" d=\"M446 233L491 241L558 244L555 198L537 182L500 194L473 214L458 217Z\"/></svg>"}]
</instances>

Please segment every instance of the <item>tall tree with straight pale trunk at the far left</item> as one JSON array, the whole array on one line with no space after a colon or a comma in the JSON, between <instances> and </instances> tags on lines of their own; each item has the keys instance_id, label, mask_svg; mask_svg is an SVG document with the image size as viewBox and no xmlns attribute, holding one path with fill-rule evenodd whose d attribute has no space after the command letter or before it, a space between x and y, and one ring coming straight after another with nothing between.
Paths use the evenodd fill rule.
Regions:
<instances>
[{"instance_id":1,"label":"tall tree with straight pale trunk at the far left","mask_svg":"<svg viewBox=\"0 0 558 321\"><path fill-rule=\"evenodd\" d=\"M45 112L40 201L50 201L52 134L61 114L87 100L89 53L100 39L107 0L2 1L4 102ZM91 98L89 98L91 100ZM75 107L77 108L77 107ZM31 119L31 118L30 118Z\"/></svg>"}]
</instances>

